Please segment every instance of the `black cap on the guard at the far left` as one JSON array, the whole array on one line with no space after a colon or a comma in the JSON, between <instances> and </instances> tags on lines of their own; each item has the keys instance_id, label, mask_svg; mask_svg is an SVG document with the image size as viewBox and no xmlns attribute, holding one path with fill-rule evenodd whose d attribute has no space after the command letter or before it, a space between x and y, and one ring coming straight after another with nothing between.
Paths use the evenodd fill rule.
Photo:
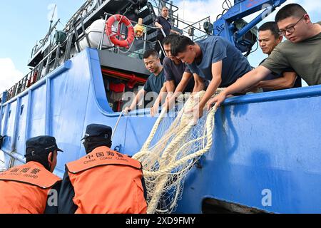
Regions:
<instances>
[{"instance_id":1,"label":"black cap on the guard at the far left","mask_svg":"<svg viewBox=\"0 0 321 228\"><path fill-rule=\"evenodd\" d=\"M26 155L24 155L24 157L44 153L49 154L49 152L53 152L54 150L63 152L63 150L58 148L54 137L48 135L38 136L26 141Z\"/></svg>"}]
</instances>

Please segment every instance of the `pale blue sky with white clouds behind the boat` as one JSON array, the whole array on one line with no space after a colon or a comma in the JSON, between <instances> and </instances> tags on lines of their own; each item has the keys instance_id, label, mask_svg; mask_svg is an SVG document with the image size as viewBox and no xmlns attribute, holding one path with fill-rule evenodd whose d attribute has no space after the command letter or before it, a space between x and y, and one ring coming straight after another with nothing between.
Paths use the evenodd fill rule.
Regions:
<instances>
[{"instance_id":1,"label":"pale blue sky with white clouds behind the boat","mask_svg":"<svg viewBox=\"0 0 321 228\"><path fill-rule=\"evenodd\" d=\"M6 2L6 3L5 3ZM31 55L31 49L36 41L44 38L49 30L49 19L52 4L57 5L57 16L62 24L70 19L84 0L27 0L4 1L0 0L0 93L18 82L22 76L29 72L26 66ZM180 6L180 17L187 21L196 21L205 16L212 19L222 11L223 0L175 0L174 4ZM299 3L310 13L312 21L320 21L321 1L288 0L287 3ZM286 4L287 4L286 3ZM271 15L267 20L271 21ZM213 21L212 21L213 22ZM62 28L58 25L58 29ZM265 56L258 51L250 56L249 60L256 66Z\"/></svg>"}]
</instances>

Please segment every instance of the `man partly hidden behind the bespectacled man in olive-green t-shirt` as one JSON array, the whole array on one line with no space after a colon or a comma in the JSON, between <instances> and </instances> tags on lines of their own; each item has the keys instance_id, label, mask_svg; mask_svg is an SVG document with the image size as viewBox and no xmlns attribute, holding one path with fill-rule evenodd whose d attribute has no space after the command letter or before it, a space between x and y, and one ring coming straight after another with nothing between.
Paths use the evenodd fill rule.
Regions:
<instances>
[{"instance_id":1,"label":"man partly hidden behind the bespectacled man in olive-green t-shirt","mask_svg":"<svg viewBox=\"0 0 321 228\"><path fill-rule=\"evenodd\" d=\"M259 44L263 53L270 56L273 49L282 42L283 36L279 34L279 28L274 21L266 22L259 28ZM264 63L263 60L260 64ZM301 87L301 78L297 77L292 68L286 68L281 74L270 73L263 81L260 81L251 90L263 88L263 92L286 88Z\"/></svg>"}]
</instances>

